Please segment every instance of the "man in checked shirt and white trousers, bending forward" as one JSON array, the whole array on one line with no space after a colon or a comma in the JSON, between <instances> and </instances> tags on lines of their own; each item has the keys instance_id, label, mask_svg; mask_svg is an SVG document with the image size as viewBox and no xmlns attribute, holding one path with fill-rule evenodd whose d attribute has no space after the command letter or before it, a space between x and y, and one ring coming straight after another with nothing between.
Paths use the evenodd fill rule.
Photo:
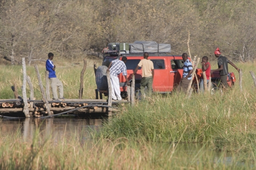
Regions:
<instances>
[{"instance_id":1,"label":"man in checked shirt and white trousers, bending forward","mask_svg":"<svg viewBox=\"0 0 256 170\"><path fill-rule=\"evenodd\" d=\"M122 57L122 60L119 60L117 58L116 60L113 60L108 66L108 70L110 70L113 100L122 100L120 86L119 86L119 79L117 77L118 74L122 72L127 82L127 86L130 86L130 82L128 82L128 79L127 79L127 71L126 71L126 65L125 65L126 61L127 61L126 57Z\"/></svg>"}]
</instances>

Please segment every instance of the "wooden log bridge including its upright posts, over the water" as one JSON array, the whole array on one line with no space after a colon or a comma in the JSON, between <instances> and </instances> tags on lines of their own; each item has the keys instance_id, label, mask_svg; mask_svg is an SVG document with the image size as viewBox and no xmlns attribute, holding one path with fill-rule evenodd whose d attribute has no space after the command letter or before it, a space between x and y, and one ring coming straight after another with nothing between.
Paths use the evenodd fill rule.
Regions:
<instances>
[{"instance_id":1,"label":"wooden log bridge including its upright posts, over the water","mask_svg":"<svg viewBox=\"0 0 256 170\"><path fill-rule=\"evenodd\" d=\"M49 72L45 72L46 78L46 90L43 88L42 80L38 71L38 67L35 64L35 70L37 73L39 87L41 89L42 100L36 100L34 98L34 87L30 81L29 76L26 75L25 58L22 58L22 70L23 70L23 88L22 97L18 95L15 85L12 87L15 99L0 99L0 114L2 117L7 117L10 113L15 113L19 117L53 117L61 114L93 114L93 113L106 113L108 116L112 115L112 112L118 112L115 108L116 105L124 105L125 103L134 104L134 88L135 80L133 77L132 86L127 87L127 99L121 101L112 101L111 97L111 83L110 74L107 72L108 80L108 99L102 99L100 93L100 99L98 99L98 90L96 89L95 98L97 99L82 99L83 95L83 75L86 69L86 60L84 59L84 67L81 72L81 86L79 90L79 99L61 99L52 100L50 98L50 83ZM96 63L94 62L94 71ZM27 98L26 84L29 84L30 98ZM3 116L4 115L4 116Z\"/></svg>"}]
</instances>

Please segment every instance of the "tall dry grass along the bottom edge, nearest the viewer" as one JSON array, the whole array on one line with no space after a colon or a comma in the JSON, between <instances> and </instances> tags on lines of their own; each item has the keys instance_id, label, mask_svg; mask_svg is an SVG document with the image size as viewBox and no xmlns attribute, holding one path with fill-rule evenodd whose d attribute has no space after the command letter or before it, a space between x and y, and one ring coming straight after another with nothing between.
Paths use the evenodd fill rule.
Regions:
<instances>
[{"instance_id":1,"label":"tall dry grass along the bottom edge, nearest the viewer","mask_svg":"<svg viewBox=\"0 0 256 170\"><path fill-rule=\"evenodd\" d=\"M218 152L189 146L119 138L82 140L83 133L54 140L37 130L31 141L20 132L0 132L1 169L254 169L255 152Z\"/></svg>"}]
</instances>

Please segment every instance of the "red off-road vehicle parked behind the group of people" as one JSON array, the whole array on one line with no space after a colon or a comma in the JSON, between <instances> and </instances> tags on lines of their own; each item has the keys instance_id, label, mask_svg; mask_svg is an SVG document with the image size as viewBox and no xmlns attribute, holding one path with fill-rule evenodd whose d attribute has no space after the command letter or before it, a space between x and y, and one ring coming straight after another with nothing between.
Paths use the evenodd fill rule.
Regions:
<instances>
[{"instance_id":1,"label":"red off-road vehicle parked behind the group of people","mask_svg":"<svg viewBox=\"0 0 256 170\"><path fill-rule=\"evenodd\" d=\"M140 42L139 42L140 43ZM143 48L144 50L144 48ZM145 50L146 51L146 50ZM127 78L128 80L132 79L132 74L137 67L140 60L143 59L142 53L110 53L106 55L103 59L104 65L109 65L109 63L115 59L122 60L122 57L127 57L127 62L125 63L127 69ZM183 74L183 63L182 56L168 55L167 53L149 53L149 60L154 64L154 80L153 80L153 92L158 93L169 93L173 89L177 88ZM190 57L188 59L191 61ZM202 78L202 69L196 70L196 77L198 81ZM121 96L126 96L127 86L125 83L124 75L121 73L118 75ZM140 82L142 78L142 70L139 67L137 73L135 73L135 90L140 89ZM236 81L234 73L228 74L228 85L231 87ZM220 81L220 75L218 71L211 74L212 86L217 87ZM194 86L197 89L196 79L193 80Z\"/></svg>"}]
</instances>

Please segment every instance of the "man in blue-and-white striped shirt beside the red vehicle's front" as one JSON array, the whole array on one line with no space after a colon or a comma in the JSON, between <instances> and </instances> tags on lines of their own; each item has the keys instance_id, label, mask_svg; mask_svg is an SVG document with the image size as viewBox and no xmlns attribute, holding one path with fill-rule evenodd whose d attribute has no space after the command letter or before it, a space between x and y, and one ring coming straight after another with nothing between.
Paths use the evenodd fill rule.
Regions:
<instances>
[{"instance_id":1,"label":"man in blue-and-white striped shirt beside the red vehicle's front","mask_svg":"<svg viewBox=\"0 0 256 170\"><path fill-rule=\"evenodd\" d=\"M183 75L182 79L180 81L180 91L186 92L188 89L188 84L190 80L192 79L192 72L193 72L193 67L191 62L188 60L188 54L183 53L182 54L182 59L184 61L184 66L183 66Z\"/></svg>"}]
</instances>

